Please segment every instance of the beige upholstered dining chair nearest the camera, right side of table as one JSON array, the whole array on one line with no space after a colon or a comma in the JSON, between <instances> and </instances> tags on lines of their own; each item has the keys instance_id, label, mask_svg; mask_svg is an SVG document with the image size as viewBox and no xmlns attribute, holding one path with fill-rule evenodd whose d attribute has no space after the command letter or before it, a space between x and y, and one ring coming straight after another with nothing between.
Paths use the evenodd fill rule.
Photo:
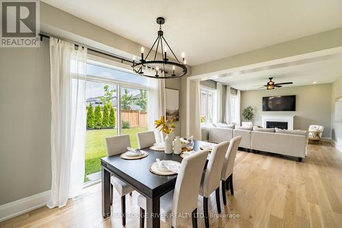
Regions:
<instances>
[{"instance_id":1,"label":"beige upholstered dining chair nearest the camera, right side of table","mask_svg":"<svg viewBox=\"0 0 342 228\"><path fill-rule=\"evenodd\" d=\"M174 190L160 198L161 214L167 215L162 216L161 220L174 228L181 224L183 218L171 215L190 213L192 213L192 227L197 227L198 190L208 153L208 151L201 151L185 157L182 160ZM143 228L146 198L139 195L137 205L140 207L140 228Z\"/></svg>"}]
</instances>

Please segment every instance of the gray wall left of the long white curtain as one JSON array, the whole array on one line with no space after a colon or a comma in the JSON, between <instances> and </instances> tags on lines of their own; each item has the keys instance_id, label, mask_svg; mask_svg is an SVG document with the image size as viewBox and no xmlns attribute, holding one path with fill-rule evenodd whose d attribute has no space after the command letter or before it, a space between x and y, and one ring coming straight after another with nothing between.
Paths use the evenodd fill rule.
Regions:
<instances>
[{"instance_id":1,"label":"gray wall left of the long white curtain","mask_svg":"<svg viewBox=\"0 0 342 228\"><path fill-rule=\"evenodd\" d=\"M0 205L51 188L49 42L0 48Z\"/></svg>"}]
</instances>

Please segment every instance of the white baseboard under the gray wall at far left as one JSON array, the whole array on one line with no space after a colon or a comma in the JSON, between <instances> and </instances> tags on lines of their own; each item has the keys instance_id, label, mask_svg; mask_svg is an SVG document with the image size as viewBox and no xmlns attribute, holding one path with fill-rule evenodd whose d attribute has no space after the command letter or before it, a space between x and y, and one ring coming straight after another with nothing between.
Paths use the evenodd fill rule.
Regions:
<instances>
[{"instance_id":1,"label":"white baseboard under the gray wall at far left","mask_svg":"<svg viewBox=\"0 0 342 228\"><path fill-rule=\"evenodd\" d=\"M31 197L0 205L0 222L43 207L47 204L47 201L49 201L50 192L51 190L40 192Z\"/></svg>"}]
</instances>

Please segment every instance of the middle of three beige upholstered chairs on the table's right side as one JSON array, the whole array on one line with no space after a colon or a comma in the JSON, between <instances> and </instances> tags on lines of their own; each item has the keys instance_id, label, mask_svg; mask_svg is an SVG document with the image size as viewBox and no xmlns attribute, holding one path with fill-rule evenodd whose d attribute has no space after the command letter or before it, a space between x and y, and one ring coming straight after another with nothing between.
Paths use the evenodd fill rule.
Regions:
<instances>
[{"instance_id":1,"label":"middle of three beige upholstered chairs on the table's right side","mask_svg":"<svg viewBox=\"0 0 342 228\"><path fill-rule=\"evenodd\" d=\"M220 179L224 156L228 149L229 142L220 142L213 147L210 153L207 169L202 174L199 194L203 197L203 211L205 215L205 227L209 227L208 198L215 191L216 206L218 213L221 213L220 203Z\"/></svg>"}]
</instances>

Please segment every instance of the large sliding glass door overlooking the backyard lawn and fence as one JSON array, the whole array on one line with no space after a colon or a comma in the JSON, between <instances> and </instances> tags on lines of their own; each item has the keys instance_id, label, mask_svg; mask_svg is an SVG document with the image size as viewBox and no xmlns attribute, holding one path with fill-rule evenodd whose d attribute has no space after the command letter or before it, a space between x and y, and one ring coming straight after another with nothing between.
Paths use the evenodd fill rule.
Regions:
<instances>
[{"instance_id":1,"label":"large sliding glass door overlooking the backyard lawn and fence","mask_svg":"<svg viewBox=\"0 0 342 228\"><path fill-rule=\"evenodd\" d=\"M105 138L128 134L136 148L137 133L147 131L148 119L146 77L93 60L87 64L87 74L85 182L101 178Z\"/></svg>"}]
</instances>

